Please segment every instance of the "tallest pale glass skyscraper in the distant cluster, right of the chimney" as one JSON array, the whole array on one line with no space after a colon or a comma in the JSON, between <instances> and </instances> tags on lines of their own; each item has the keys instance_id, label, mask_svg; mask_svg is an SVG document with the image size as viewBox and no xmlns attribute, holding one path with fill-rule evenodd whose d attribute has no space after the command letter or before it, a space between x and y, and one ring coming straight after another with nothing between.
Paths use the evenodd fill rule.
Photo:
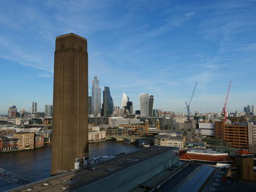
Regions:
<instances>
[{"instance_id":1,"label":"tallest pale glass skyscraper in the distant cluster, right of the chimney","mask_svg":"<svg viewBox=\"0 0 256 192\"><path fill-rule=\"evenodd\" d=\"M92 113L94 117L100 116L100 88L99 88L99 80L98 77L94 77L94 81L92 82L92 90L91 90L91 107Z\"/></svg>"}]
</instances>

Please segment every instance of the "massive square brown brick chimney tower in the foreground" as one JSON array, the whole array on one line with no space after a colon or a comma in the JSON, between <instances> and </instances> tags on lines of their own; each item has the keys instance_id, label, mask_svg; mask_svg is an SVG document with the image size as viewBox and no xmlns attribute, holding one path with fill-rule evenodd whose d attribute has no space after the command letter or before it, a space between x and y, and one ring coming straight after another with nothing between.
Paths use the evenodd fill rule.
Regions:
<instances>
[{"instance_id":1,"label":"massive square brown brick chimney tower in the foreground","mask_svg":"<svg viewBox=\"0 0 256 192\"><path fill-rule=\"evenodd\" d=\"M56 37L51 174L71 171L88 156L87 41L76 34Z\"/></svg>"}]
</instances>

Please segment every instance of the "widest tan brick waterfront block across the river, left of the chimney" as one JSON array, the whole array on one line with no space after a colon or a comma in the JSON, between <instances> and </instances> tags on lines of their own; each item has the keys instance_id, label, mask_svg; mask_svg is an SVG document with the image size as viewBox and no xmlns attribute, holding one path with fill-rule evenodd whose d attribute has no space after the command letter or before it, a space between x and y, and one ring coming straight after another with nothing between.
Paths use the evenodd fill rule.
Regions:
<instances>
[{"instance_id":1,"label":"widest tan brick waterfront block across the river, left of the chimney","mask_svg":"<svg viewBox=\"0 0 256 192\"><path fill-rule=\"evenodd\" d=\"M34 149L34 133L17 133L13 138L18 139L18 150Z\"/></svg>"}]
</instances>

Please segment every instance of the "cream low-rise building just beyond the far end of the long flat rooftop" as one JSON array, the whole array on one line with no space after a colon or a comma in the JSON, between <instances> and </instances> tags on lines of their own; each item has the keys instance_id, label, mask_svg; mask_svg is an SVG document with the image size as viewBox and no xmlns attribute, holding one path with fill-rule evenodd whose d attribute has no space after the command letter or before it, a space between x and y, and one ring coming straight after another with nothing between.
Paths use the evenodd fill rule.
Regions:
<instances>
[{"instance_id":1,"label":"cream low-rise building just beyond the far end of the long flat rooftop","mask_svg":"<svg viewBox=\"0 0 256 192\"><path fill-rule=\"evenodd\" d=\"M154 145L165 147L178 147L183 149L186 142L185 137L171 137L168 134L158 134L154 137Z\"/></svg>"}]
</instances>

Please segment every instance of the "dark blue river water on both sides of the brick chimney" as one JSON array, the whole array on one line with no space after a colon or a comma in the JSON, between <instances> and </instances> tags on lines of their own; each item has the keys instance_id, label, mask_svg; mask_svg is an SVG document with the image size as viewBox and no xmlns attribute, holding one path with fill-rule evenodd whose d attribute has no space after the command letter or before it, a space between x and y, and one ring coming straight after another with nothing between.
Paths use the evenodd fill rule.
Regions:
<instances>
[{"instance_id":1,"label":"dark blue river water on both sides of the brick chimney","mask_svg":"<svg viewBox=\"0 0 256 192\"><path fill-rule=\"evenodd\" d=\"M140 147L127 142L97 142L89 145L89 156L116 155L116 153L129 153L139 150ZM0 168L13 174L22 176L25 180L34 182L50 177L51 147L43 147L37 150L18 151L12 153L0 153ZM20 184L11 183L0 178L0 191L17 188Z\"/></svg>"}]
</instances>

